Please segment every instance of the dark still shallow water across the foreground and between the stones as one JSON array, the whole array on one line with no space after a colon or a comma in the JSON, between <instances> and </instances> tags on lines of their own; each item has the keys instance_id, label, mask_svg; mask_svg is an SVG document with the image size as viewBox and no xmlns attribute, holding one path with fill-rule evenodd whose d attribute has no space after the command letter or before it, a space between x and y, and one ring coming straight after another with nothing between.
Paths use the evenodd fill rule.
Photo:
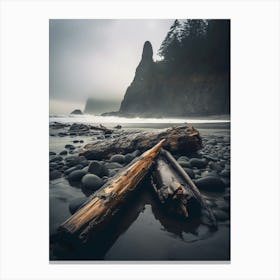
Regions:
<instances>
[{"instance_id":1,"label":"dark still shallow water across the foreground and between the stones","mask_svg":"<svg viewBox=\"0 0 280 280\"><path fill-rule=\"evenodd\" d=\"M201 124L200 132L210 138L228 136L228 126ZM59 152L76 138L85 143L91 139L51 136L50 151ZM225 194L202 193L214 202ZM50 182L50 234L70 217L69 202L81 196L85 196L82 191L64 178ZM90 239L86 246L60 244L50 249L51 260L229 260L230 222L219 222L218 230L213 231L199 218L182 221L170 216L160 205L147 176L102 234Z\"/></svg>"}]
</instances>

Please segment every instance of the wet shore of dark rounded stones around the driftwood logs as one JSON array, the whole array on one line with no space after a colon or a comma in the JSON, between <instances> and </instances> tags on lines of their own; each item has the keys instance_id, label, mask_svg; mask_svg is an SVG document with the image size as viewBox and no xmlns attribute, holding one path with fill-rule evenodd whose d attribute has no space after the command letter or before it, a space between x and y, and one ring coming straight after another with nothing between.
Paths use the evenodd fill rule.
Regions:
<instances>
[{"instance_id":1,"label":"wet shore of dark rounded stones around the driftwood logs","mask_svg":"<svg viewBox=\"0 0 280 280\"><path fill-rule=\"evenodd\" d=\"M95 140L135 133L121 126L109 130L91 129L86 124L50 124L49 179L50 232L75 213L87 197L125 167L140 152L114 154L103 160L79 155L80 148ZM137 130L139 131L139 129ZM173 155L193 179L220 225L230 225L230 135L202 135L203 148L195 154ZM58 213L58 209L60 213ZM199 222L207 226L203 218Z\"/></svg>"}]
</instances>

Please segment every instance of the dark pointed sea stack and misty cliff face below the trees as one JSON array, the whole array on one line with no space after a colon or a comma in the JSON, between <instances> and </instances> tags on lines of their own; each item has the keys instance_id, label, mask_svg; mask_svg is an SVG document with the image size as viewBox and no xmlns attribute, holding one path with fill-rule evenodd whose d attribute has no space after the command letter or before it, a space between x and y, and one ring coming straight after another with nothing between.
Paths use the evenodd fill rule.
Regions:
<instances>
[{"instance_id":1,"label":"dark pointed sea stack and misty cliff face below the trees","mask_svg":"<svg viewBox=\"0 0 280 280\"><path fill-rule=\"evenodd\" d=\"M166 63L153 61L152 45L146 41L119 114L144 117L229 114L229 79L229 73L170 73Z\"/></svg>"}]
</instances>

